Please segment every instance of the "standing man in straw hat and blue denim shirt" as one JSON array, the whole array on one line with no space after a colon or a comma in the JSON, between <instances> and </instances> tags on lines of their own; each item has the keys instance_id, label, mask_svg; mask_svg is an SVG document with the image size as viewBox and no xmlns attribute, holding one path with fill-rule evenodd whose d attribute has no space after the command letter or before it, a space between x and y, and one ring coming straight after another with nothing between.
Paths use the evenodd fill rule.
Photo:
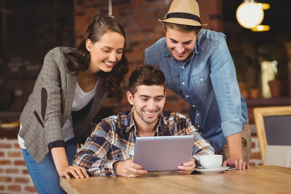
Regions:
<instances>
[{"instance_id":1,"label":"standing man in straw hat and blue denim shirt","mask_svg":"<svg viewBox=\"0 0 291 194\"><path fill-rule=\"evenodd\" d=\"M247 107L226 36L201 28L196 0L173 0L162 22L165 37L145 51L145 64L160 67L166 86L190 105L189 117L223 165L250 168Z\"/></svg>"}]
</instances>

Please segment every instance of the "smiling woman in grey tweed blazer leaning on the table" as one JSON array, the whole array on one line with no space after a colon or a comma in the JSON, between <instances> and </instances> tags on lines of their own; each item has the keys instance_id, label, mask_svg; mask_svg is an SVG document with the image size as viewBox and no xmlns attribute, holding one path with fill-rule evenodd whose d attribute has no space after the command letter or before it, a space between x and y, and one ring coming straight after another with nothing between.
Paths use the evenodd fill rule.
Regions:
<instances>
[{"instance_id":1,"label":"smiling woman in grey tweed blazer leaning on the table","mask_svg":"<svg viewBox=\"0 0 291 194\"><path fill-rule=\"evenodd\" d=\"M65 193L60 178L88 177L72 166L77 143L91 134L91 121L109 93L121 97L128 73L125 32L110 16L97 17L78 49L50 50L20 116L18 143L39 194Z\"/></svg>"}]
</instances>

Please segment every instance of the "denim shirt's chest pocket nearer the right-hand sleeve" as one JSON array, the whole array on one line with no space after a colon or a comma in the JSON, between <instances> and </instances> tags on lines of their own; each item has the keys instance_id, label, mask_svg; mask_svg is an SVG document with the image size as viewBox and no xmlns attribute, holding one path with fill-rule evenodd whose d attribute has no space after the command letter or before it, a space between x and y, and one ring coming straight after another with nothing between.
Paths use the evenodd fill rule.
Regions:
<instances>
[{"instance_id":1,"label":"denim shirt's chest pocket nearer the right-hand sleeve","mask_svg":"<svg viewBox=\"0 0 291 194\"><path fill-rule=\"evenodd\" d=\"M204 99L208 96L210 88L212 87L209 73L210 70L206 67L199 73L191 75L194 91L202 101L204 101Z\"/></svg>"}]
</instances>

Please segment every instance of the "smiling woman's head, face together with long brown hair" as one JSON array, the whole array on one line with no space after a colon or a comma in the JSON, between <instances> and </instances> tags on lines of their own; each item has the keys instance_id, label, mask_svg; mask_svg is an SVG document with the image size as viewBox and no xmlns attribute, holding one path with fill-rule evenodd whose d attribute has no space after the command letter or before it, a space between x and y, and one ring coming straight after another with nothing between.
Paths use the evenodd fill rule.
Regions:
<instances>
[{"instance_id":1,"label":"smiling woman's head, face together with long brown hair","mask_svg":"<svg viewBox=\"0 0 291 194\"><path fill-rule=\"evenodd\" d=\"M95 75L94 79L98 77L104 80L103 87L120 98L120 82L129 71L123 53L125 38L123 26L118 20L110 16L97 17L88 27L77 52L65 55L70 60L72 69L78 68L78 73L86 72Z\"/></svg>"}]
</instances>

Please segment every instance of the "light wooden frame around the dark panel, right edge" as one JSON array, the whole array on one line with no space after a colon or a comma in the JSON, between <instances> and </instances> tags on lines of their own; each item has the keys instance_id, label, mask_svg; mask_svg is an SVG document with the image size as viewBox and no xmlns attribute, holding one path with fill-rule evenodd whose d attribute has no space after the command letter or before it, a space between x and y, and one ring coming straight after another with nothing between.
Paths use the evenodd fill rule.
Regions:
<instances>
[{"instance_id":1,"label":"light wooden frame around the dark panel, right edge","mask_svg":"<svg viewBox=\"0 0 291 194\"><path fill-rule=\"evenodd\" d=\"M265 149L268 145L263 117L280 115L291 115L291 106L254 108L254 117L257 128L257 136L259 139L260 155L263 163L265 159Z\"/></svg>"}]
</instances>

